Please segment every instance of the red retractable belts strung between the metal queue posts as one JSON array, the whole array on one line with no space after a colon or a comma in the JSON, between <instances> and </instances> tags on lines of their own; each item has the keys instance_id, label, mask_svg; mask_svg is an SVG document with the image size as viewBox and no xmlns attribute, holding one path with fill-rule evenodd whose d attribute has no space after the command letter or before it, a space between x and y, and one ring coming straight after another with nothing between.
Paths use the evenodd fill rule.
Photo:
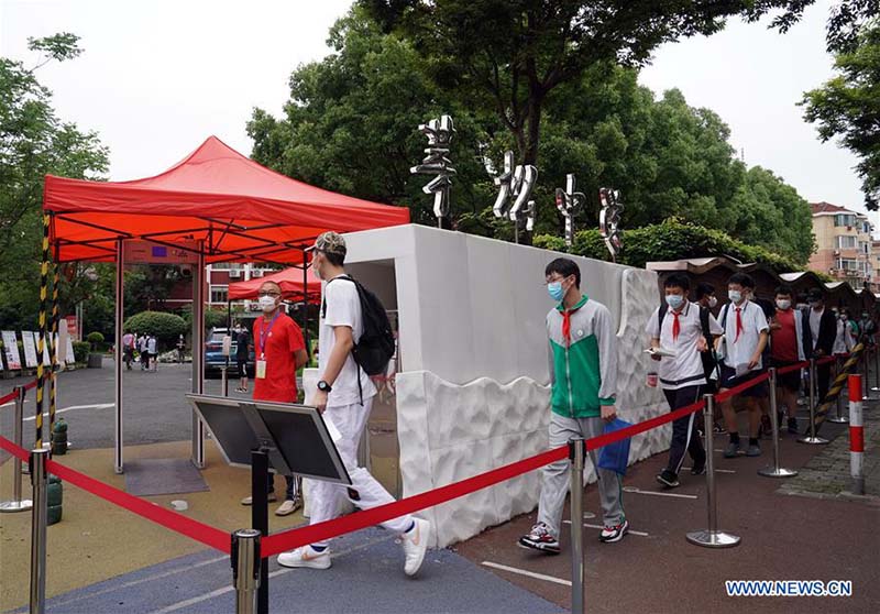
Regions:
<instances>
[{"instance_id":1,"label":"red retractable belts strung between the metal queue posts","mask_svg":"<svg viewBox=\"0 0 880 614\"><path fill-rule=\"evenodd\" d=\"M833 362L834 360L834 358L829 357L816 362L817 364L824 364L827 362ZM809 362L799 363L788 366L784 370L780 370L779 373L788 373L809 365ZM762 373L761 375L758 375L757 377L754 377L752 380L749 380L739 386L716 395L715 399L716 402L727 401L752 386L757 386L758 384L768 381L769 377L770 376L768 373ZM36 382L29 384L26 387L30 388L34 386L36 386ZM14 394L0 398L0 402L6 403L10 399L14 399ZM700 412L705 407L705 401L700 401L698 403L694 403L693 405L670 412L669 414L644 420L607 435L601 435L598 437L587 439L585 441L586 449L596 450L622 439L634 437L647 430L658 428L695 412ZM30 454L28 450L15 446L12 441L6 439L4 437L0 437L0 448L7 450L22 461L26 461ZM524 473L535 471L536 469L540 469L541 467L552 462L563 460L568 458L568 456L569 446L560 446L559 448L547 450L534 457L486 471L485 473L468 478L460 482L447 484L446 486L440 486L425 493L408 496L406 498L374 507L372 509L363 509L348 516L318 523L316 525L297 527L282 533L276 533L261 540L260 557L272 557L299 546L306 546L316 541L339 537L340 535L374 526L392 518L411 514L427 507L433 507L482 489L505 482ZM112 503L113 505L123 507L129 512L142 516L143 518L185 535L190 539L200 541L201 544L210 546L211 548L220 550L221 552L230 553L231 540L229 531L211 527L198 520L194 520L188 516L184 516L177 512L166 509L152 502L131 495L84 473L79 473L78 471L65 467L56 461L47 461L46 467L50 472L57 475L62 480L66 480L75 486L99 496L105 501Z\"/></svg>"}]
</instances>

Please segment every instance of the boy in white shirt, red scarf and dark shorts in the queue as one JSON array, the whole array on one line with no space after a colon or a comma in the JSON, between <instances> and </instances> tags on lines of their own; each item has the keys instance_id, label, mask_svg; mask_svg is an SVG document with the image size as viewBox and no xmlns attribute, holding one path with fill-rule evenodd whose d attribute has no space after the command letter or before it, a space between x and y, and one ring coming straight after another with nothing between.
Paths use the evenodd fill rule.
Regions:
<instances>
[{"instance_id":1,"label":"boy in white shirt, red scarf and dark shorts in the queue","mask_svg":"<svg viewBox=\"0 0 880 614\"><path fill-rule=\"evenodd\" d=\"M727 282L727 296L730 298L730 303L725 305L719 314L724 335L716 341L716 347L724 346L724 359L718 382L719 392L735 388L754 380L761 374L763 369L761 354L767 347L770 326L767 324L763 309L747 298L754 289L755 282L745 273L737 273ZM758 399L766 394L767 386L763 382L740 393L749 412L747 457L761 456L761 448L758 446L761 408ZM740 450L739 427L733 399L728 398L721 405L730 437L730 442L724 450L724 458L732 459L739 454Z\"/></svg>"}]
</instances>

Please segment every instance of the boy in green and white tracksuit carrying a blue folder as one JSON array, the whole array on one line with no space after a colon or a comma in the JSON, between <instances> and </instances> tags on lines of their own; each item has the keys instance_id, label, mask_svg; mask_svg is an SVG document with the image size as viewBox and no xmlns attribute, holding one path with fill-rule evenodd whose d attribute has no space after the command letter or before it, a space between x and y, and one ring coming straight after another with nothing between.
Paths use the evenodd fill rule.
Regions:
<instances>
[{"instance_id":1,"label":"boy in green and white tracksuit carrying a blue folder","mask_svg":"<svg viewBox=\"0 0 880 614\"><path fill-rule=\"evenodd\" d=\"M550 447L572 437L590 439L614 420L617 386L617 339L607 307L581 293L581 271L560 257L547 265L547 289L558 305L547 315L550 381ZM597 454L590 452L593 465ZM569 460L547 465L542 473L538 522L519 545L559 553L562 508L570 482ZM619 541L629 530L624 515L620 475L598 470L598 492L605 527L600 540Z\"/></svg>"}]
</instances>

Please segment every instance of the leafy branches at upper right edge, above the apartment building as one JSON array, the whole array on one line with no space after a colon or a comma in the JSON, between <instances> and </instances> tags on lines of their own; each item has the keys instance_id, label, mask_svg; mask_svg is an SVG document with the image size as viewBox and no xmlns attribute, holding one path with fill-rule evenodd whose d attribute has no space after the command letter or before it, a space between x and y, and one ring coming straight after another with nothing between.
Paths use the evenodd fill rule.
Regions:
<instances>
[{"instance_id":1,"label":"leafy branches at upper right edge, above the apartment building","mask_svg":"<svg viewBox=\"0 0 880 614\"><path fill-rule=\"evenodd\" d=\"M837 75L807 91L804 119L817 124L823 141L839 139L859 158L865 205L880 200L880 18L855 36L835 58Z\"/></svg>"}]
</instances>

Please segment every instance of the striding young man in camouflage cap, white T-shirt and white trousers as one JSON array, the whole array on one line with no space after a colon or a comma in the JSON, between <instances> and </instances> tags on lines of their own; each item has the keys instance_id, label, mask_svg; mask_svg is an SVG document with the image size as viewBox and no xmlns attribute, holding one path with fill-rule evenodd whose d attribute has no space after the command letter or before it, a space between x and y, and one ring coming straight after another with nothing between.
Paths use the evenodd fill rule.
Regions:
<instances>
[{"instance_id":1,"label":"striding young man in camouflage cap, white T-shirt and white trousers","mask_svg":"<svg viewBox=\"0 0 880 614\"><path fill-rule=\"evenodd\" d=\"M310 524L330 520L338 515L340 498L348 498L361 509L392 503L394 497L358 465L358 445L366 427L376 387L359 368L352 349L363 333L363 311L355 284L345 276L345 240L336 232L324 232L315 243L312 268L326 282L318 331L318 392L310 404L332 421L342 438L337 441L339 454L351 478L351 487L317 481L310 491ZM428 520L406 515L382 523L400 535L404 547L404 572L415 575L430 541ZM311 544L278 556L284 567L328 569L330 549L327 541Z\"/></svg>"}]
</instances>

